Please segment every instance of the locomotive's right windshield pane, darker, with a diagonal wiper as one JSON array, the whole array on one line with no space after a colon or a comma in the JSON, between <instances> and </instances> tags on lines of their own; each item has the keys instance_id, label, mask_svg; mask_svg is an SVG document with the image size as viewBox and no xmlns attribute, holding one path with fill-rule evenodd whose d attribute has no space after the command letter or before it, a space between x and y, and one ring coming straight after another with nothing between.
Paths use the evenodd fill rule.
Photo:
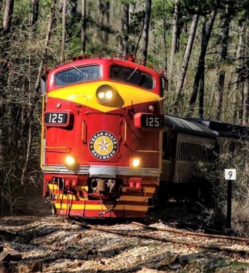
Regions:
<instances>
[{"instance_id":1,"label":"locomotive's right windshield pane, darker, with a diagonal wiper","mask_svg":"<svg viewBox=\"0 0 249 273\"><path fill-rule=\"evenodd\" d=\"M153 78L139 71L137 68L130 69L122 66L112 66L111 79L135 84L150 90L154 87Z\"/></svg>"}]
</instances>

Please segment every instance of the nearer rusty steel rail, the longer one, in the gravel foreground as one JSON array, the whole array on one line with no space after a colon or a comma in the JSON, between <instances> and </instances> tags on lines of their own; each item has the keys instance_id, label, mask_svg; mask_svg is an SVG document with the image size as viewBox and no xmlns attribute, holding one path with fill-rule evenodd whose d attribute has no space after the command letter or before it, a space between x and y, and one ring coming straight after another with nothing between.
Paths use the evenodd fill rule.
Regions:
<instances>
[{"instance_id":1,"label":"nearer rusty steel rail, the longer one, in the gravel foreground","mask_svg":"<svg viewBox=\"0 0 249 273\"><path fill-rule=\"evenodd\" d=\"M126 236L126 237L136 237L136 238L142 238L142 239L149 239L149 240L157 240L161 242L166 242L166 243L175 243L175 244L180 244L180 245L187 245L189 247L197 247L197 248L204 248L204 249L210 249L210 250L216 250L216 251L225 251L227 253L234 253L237 255L242 255L242 256L249 256L249 251L246 250L238 250L238 249L232 249L232 248L227 248L219 245L209 245L209 244L204 244L204 243L195 243L195 242L190 242L186 240L179 240L179 239L170 239L170 238L164 238L156 235L150 235L150 234L142 234L142 233L126 233L123 231L117 231L117 230L111 230L111 229L106 229L106 228L100 228L100 227L95 227L92 225L86 225L79 223L77 221L73 221L75 224L80 225L83 228L86 229L91 229L91 230L97 230L101 232L107 232L107 233L112 233L120 236Z\"/></svg>"}]
</instances>

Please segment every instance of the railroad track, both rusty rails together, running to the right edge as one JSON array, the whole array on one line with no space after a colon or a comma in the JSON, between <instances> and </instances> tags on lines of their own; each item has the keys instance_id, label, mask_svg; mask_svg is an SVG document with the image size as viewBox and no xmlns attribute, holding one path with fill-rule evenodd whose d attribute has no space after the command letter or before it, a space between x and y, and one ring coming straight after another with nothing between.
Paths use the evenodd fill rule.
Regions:
<instances>
[{"instance_id":1,"label":"railroad track, both rusty rails together, running to the right edge","mask_svg":"<svg viewBox=\"0 0 249 273\"><path fill-rule=\"evenodd\" d=\"M75 224L79 224L81 227L85 229L91 229L91 230L97 230L101 232L106 233L112 233L120 236L126 236L126 237L136 237L136 238L142 238L142 239L149 239L149 240L156 240L161 242L170 242L174 244L180 244L180 245L187 245L189 247L197 247L197 248L203 248L203 249L210 249L210 250L216 250L216 251L225 251L230 254L236 254L241 256L249 257L249 251L247 250L239 250L234 248L229 248L226 246L222 246L220 244L206 244L206 243L197 243L192 242L189 240L180 240L175 238L165 238L162 236L154 235L151 233L144 233L144 231L164 231L172 233L173 235L177 236L189 236L189 237L199 237L199 238L205 238L205 239L219 239L219 240L225 240L230 243L239 244L239 245L249 245L249 239L245 238L239 238L239 237L230 237L230 236L223 236L223 235L213 235L213 234L202 234L202 233L196 233L196 232L185 232L181 230L176 230L172 228L154 228L149 227L147 225L143 225L141 223L137 222L131 222L131 224L141 227L142 229L138 232L124 232L124 231L118 231L114 229L109 228L103 228L103 227L97 227L93 225L87 225L82 224L79 221L73 221Z\"/></svg>"}]
</instances>

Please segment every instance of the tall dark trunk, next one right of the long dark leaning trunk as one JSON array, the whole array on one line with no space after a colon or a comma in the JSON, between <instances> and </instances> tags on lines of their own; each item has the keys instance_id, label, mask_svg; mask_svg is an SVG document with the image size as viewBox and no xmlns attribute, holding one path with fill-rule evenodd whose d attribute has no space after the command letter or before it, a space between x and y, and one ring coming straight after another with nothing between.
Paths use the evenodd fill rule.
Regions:
<instances>
[{"instance_id":1,"label":"tall dark trunk, next one right of the long dark leaning trunk","mask_svg":"<svg viewBox=\"0 0 249 273\"><path fill-rule=\"evenodd\" d=\"M223 64L228 55L228 38L229 38L229 25L230 25L230 19L231 14L228 11L228 8L226 9L226 13L224 14L223 22L222 22L222 28L223 28L223 35L222 35L222 48L221 48L221 56L220 56L220 63ZM216 119L219 121L221 119L221 111L222 111L222 102L223 102L223 89L224 89L224 83L225 83L225 70L221 70L218 72L218 92L216 97Z\"/></svg>"}]
</instances>

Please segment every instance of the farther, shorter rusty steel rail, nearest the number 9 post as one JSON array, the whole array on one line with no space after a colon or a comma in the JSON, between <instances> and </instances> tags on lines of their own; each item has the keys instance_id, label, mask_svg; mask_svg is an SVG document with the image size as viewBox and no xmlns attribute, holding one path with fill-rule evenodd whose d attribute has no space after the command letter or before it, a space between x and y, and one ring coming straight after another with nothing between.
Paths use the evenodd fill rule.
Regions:
<instances>
[{"instance_id":1,"label":"farther, shorter rusty steel rail, nearest the number 9 post","mask_svg":"<svg viewBox=\"0 0 249 273\"><path fill-rule=\"evenodd\" d=\"M182 231L173 228L157 228L157 227L150 227L141 223L131 222L131 224L145 228L150 230L158 230L158 231L166 231L170 233L174 233L180 236L191 236L191 237L204 237L208 239L222 239L222 240L229 240L233 243L237 243L239 245L249 245L249 239L241 238L241 237L233 237L233 236L225 236L225 235L214 235L208 233L198 233L198 232L191 232L191 231Z\"/></svg>"}]
</instances>

